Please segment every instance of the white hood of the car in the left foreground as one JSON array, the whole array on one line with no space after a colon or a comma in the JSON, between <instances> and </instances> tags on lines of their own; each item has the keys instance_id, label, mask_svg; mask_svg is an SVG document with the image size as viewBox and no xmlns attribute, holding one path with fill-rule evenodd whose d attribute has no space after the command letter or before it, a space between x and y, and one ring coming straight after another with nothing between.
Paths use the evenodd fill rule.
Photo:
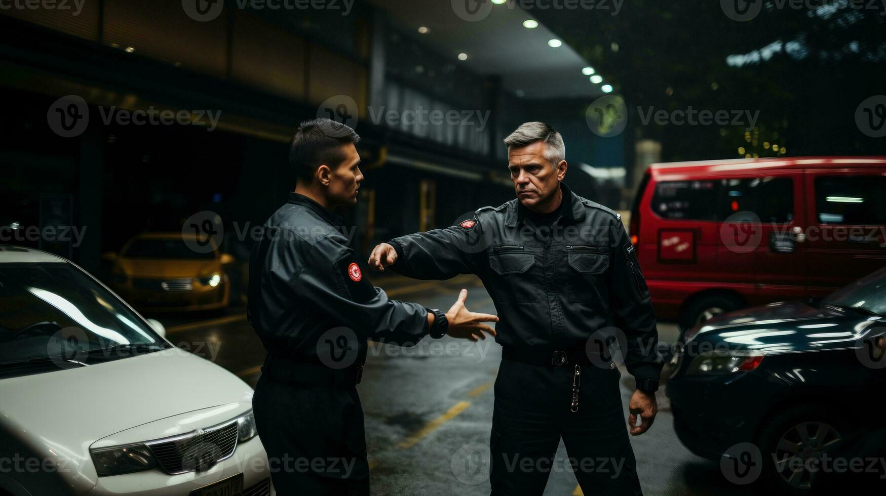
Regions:
<instances>
[{"instance_id":1,"label":"white hood of the car in the left foreground","mask_svg":"<svg viewBox=\"0 0 886 496\"><path fill-rule=\"evenodd\" d=\"M253 389L213 362L171 348L0 379L0 398L0 432L10 440L0 453L66 464L75 492L85 492L95 484L89 446L97 440L195 410L249 404Z\"/></svg>"}]
</instances>

